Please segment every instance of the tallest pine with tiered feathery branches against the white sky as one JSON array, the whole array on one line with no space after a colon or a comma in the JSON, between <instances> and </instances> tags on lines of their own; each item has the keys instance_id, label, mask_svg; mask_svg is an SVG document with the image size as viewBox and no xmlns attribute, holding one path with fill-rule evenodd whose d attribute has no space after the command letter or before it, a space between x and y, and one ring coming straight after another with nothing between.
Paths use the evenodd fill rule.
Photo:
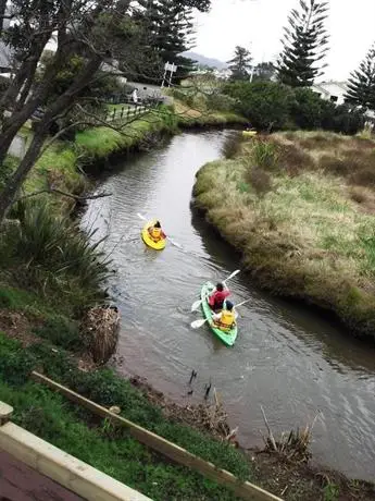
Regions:
<instances>
[{"instance_id":1,"label":"tallest pine with tiered feathery branches against the white sky","mask_svg":"<svg viewBox=\"0 0 375 501\"><path fill-rule=\"evenodd\" d=\"M327 2L321 0L300 0L300 9L291 11L277 62L277 75L283 84L307 87L323 74L322 60L329 38L325 28L327 11Z\"/></svg>"}]
</instances>

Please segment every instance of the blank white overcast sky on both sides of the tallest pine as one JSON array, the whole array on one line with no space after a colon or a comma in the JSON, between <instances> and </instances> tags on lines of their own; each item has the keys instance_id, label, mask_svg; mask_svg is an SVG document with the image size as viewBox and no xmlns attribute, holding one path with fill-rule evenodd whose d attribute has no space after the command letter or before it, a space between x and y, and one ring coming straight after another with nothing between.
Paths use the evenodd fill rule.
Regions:
<instances>
[{"instance_id":1,"label":"blank white overcast sky on both sides of the tallest pine","mask_svg":"<svg viewBox=\"0 0 375 501\"><path fill-rule=\"evenodd\" d=\"M221 61L236 45L251 50L254 60L274 60L289 11L298 0L212 0L208 14L197 16L197 47L192 50ZM330 33L325 80L346 80L375 40L375 0L330 0Z\"/></svg>"}]
</instances>

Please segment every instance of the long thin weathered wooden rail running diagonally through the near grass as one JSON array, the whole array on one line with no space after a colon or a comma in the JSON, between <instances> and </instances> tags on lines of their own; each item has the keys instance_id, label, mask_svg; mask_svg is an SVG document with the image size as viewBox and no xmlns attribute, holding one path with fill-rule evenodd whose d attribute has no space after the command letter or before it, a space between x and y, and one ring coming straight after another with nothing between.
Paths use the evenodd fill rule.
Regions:
<instances>
[{"instance_id":1,"label":"long thin weathered wooden rail running diagonally through the near grass","mask_svg":"<svg viewBox=\"0 0 375 501\"><path fill-rule=\"evenodd\" d=\"M175 443L168 442L162 437L148 431L147 429L136 425L135 423L125 419L124 417L117 416L116 414L111 413L105 407L91 402L88 399L75 393L62 384L59 384L55 381L47 378L46 376L32 372L32 378L34 381L48 386L50 389L58 391L62 395L66 396L72 402L75 402L98 416L110 419L112 423L125 427L128 429L129 433L137 439L140 443L149 447L150 449L157 451L158 453L168 457L177 464L186 466L188 468L195 469L201 475L210 478L211 480L224 485L227 488L232 489L236 496L249 500L249 501L282 501L280 498L261 489L249 481L241 481L235 477L232 473L226 472L216 467L214 464L209 463L201 457L191 454L185 449L176 445Z\"/></svg>"}]
</instances>

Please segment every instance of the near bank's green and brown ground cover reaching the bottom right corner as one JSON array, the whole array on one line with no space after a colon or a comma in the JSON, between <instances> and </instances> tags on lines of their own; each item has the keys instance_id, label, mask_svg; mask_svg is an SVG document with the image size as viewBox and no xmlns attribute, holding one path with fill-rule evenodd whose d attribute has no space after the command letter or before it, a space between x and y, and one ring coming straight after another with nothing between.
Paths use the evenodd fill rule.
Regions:
<instances>
[{"instance_id":1,"label":"near bank's green and brown ground cover reaching the bottom right corner","mask_svg":"<svg viewBox=\"0 0 375 501\"><path fill-rule=\"evenodd\" d=\"M15 302L13 307L15 314ZM51 390L32 382L28 376L33 369L104 407L118 407L125 418L287 501L325 500L325 493L334 489L348 500L375 499L373 486L366 482L314 471L305 463L286 461L274 452L235 449L223 441L224 437L213 438L204 424L185 420L183 407L178 412L178 406L172 404L173 412L170 413L170 404L161 400L160 394L159 400L154 394L149 399L138 383L135 387L108 368L89 368L87 363L72 357L61 346L46 340L41 342L37 334L17 331L18 339L14 340L9 338L12 329L7 329L7 335L0 332L3 361L0 366L0 400L14 406L14 421L154 500L164 500L166 496L183 501L234 501L236 498L227 489L188 468L163 460L108 420L95 417Z\"/></svg>"}]
</instances>

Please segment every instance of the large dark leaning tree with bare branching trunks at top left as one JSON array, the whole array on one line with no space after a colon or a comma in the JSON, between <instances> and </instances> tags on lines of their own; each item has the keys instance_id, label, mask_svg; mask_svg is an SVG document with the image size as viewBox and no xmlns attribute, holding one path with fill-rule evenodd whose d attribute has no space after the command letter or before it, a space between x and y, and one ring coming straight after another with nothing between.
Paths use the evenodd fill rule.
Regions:
<instances>
[{"instance_id":1,"label":"large dark leaning tree with bare branching trunks at top left","mask_svg":"<svg viewBox=\"0 0 375 501\"><path fill-rule=\"evenodd\" d=\"M197 0L174 2L184 8L208 4ZM0 192L0 223L41 152L51 124L75 107L104 62L122 61L132 66L142 53L143 25L134 10L132 0L12 1L14 23L1 35L13 54L13 77L0 96L0 168L20 129L36 110L43 112L24 158ZM38 63L52 36L55 51L38 78ZM57 95L57 80L75 54L82 58L82 64L72 82Z\"/></svg>"}]
</instances>

